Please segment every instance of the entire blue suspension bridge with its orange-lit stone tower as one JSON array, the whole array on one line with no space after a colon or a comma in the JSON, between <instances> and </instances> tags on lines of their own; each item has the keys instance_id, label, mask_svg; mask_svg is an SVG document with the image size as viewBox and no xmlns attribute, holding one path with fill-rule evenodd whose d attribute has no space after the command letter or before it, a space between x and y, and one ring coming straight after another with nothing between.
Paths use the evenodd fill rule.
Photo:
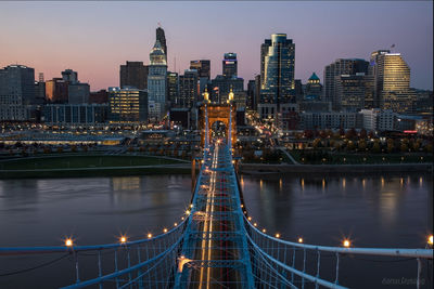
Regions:
<instances>
[{"instance_id":1,"label":"entire blue suspension bridge with its orange-lit stone tower","mask_svg":"<svg viewBox=\"0 0 434 289\"><path fill-rule=\"evenodd\" d=\"M41 264L47 265L67 259L65 270L73 280L59 287L68 289L348 288L340 281L340 272L363 273L357 272L357 266L343 265L343 259L386 258L392 262L413 260L408 271L414 276L414 287L426 285L421 276L423 266L432 267L432 248L354 248L349 240L342 247L324 247L304 244L303 239L286 241L279 234L271 236L259 229L248 216L237 174L232 104L207 103L202 111L200 171L181 223L135 241L122 237L117 244L76 246L73 239L66 239L61 247L0 248L0 262L55 255ZM218 118L227 124L226 137L213 139L209 123ZM37 267L0 272L0 278L20 278L29 270Z\"/></svg>"}]
</instances>

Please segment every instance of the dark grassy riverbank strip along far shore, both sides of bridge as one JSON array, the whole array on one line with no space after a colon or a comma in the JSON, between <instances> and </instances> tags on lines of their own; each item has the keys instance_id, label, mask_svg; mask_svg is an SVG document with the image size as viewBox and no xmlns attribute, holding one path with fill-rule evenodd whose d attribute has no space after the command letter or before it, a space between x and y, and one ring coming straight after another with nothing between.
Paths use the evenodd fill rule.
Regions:
<instances>
[{"instance_id":1,"label":"dark grassy riverbank strip along far shore, both sides of bridge","mask_svg":"<svg viewBox=\"0 0 434 289\"><path fill-rule=\"evenodd\" d=\"M69 159L71 158L71 159ZM103 160L101 160L103 158ZM0 161L0 179L93 178L143 174L190 174L186 160L150 156L52 156ZM131 166L132 165L132 166ZM432 173L433 165L267 165L240 163L242 174Z\"/></svg>"}]
</instances>

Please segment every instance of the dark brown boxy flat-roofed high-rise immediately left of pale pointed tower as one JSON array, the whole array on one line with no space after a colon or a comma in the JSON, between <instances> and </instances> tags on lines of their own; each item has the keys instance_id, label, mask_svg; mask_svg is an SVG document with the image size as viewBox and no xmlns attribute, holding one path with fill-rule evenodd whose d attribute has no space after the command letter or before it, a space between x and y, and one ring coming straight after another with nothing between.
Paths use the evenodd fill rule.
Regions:
<instances>
[{"instance_id":1,"label":"dark brown boxy flat-roofed high-rise immediately left of pale pointed tower","mask_svg":"<svg viewBox=\"0 0 434 289\"><path fill-rule=\"evenodd\" d=\"M148 88L148 66L142 62L127 62L120 65L119 70L119 86L133 87L139 90Z\"/></svg>"}]
</instances>

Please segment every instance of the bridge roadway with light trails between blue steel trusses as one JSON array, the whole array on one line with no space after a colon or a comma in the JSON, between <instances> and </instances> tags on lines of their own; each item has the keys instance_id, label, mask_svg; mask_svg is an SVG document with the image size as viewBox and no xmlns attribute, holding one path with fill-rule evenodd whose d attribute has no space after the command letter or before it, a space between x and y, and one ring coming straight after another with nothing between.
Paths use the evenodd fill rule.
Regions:
<instances>
[{"instance_id":1,"label":"bridge roadway with light trails between blue steel trusses","mask_svg":"<svg viewBox=\"0 0 434 289\"><path fill-rule=\"evenodd\" d=\"M217 141L205 149L196 181L178 288L252 288L252 268L243 215L227 144ZM188 286L187 286L188 285Z\"/></svg>"}]
</instances>

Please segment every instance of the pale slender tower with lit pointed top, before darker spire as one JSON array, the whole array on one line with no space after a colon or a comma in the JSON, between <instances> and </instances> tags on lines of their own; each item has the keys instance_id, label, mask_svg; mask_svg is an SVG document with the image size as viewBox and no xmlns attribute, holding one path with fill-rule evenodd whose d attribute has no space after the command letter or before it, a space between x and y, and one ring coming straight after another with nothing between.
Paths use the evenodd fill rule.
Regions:
<instances>
[{"instance_id":1,"label":"pale slender tower with lit pointed top, before darker spire","mask_svg":"<svg viewBox=\"0 0 434 289\"><path fill-rule=\"evenodd\" d=\"M149 116L153 120L161 120L167 111L166 107L166 54L159 43L155 41L150 53L150 66L148 75Z\"/></svg>"}]
</instances>

